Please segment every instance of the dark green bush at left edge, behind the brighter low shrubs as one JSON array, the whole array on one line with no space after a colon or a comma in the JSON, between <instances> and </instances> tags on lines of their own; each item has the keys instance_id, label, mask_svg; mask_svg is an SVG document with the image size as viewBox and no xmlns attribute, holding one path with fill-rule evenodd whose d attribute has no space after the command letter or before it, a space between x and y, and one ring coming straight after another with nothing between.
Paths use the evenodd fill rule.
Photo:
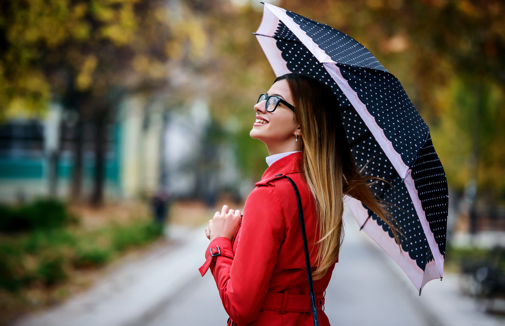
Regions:
<instances>
[{"instance_id":1,"label":"dark green bush at left edge, behind the brighter low shrubs","mask_svg":"<svg viewBox=\"0 0 505 326\"><path fill-rule=\"evenodd\" d=\"M60 228L75 221L65 204L53 199L39 199L17 207L0 205L0 232Z\"/></svg>"}]
</instances>

